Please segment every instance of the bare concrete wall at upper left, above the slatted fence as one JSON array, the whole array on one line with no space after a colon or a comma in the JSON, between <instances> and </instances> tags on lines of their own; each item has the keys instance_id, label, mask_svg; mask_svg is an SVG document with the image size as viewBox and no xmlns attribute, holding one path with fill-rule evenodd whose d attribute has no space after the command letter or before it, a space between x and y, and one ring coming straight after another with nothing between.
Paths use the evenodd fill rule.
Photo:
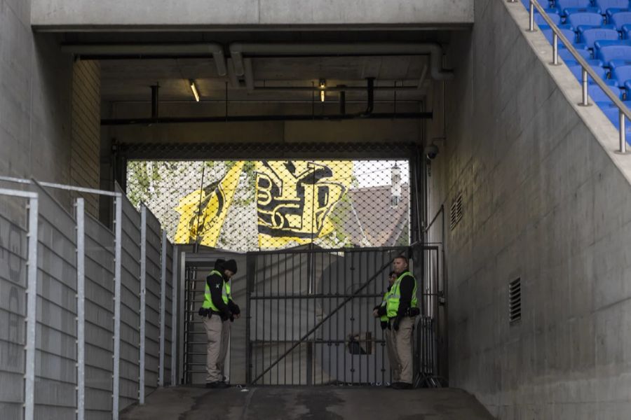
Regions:
<instances>
[{"instance_id":1,"label":"bare concrete wall at upper left, above the slatted fence","mask_svg":"<svg viewBox=\"0 0 631 420\"><path fill-rule=\"evenodd\" d=\"M0 174L68 183L72 59L32 33L30 11L0 0Z\"/></svg>"}]
</instances>

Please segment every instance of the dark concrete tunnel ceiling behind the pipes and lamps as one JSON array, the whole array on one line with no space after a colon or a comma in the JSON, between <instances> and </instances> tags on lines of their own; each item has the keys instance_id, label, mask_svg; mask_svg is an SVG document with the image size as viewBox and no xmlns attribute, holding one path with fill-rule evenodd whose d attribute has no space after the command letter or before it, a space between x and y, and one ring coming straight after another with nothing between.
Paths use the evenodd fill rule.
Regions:
<instances>
[{"instance_id":1,"label":"dark concrete tunnel ceiling behind the pipes and lamps","mask_svg":"<svg viewBox=\"0 0 631 420\"><path fill-rule=\"evenodd\" d=\"M224 32L189 32L189 33L145 33L135 34L123 32L110 33L66 33L62 43L95 44L95 43L201 43L216 42L227 45L236 41L244 42L423 42L433 41L449 43L449 31L224 31ZM230 61L230 57L226 57ZM428 57L426 56L384 56L384 57L252 57L252 74L255 90L247 89L244 78L236 80L231 74L219 76L212 57L158 58L158 59L101 59L101 96L104 104L103 118L110 118L109 111L118 109L118 117L128 113L129 106L140 104L147 113L151 103L151 85L156 82L160 88L161 115L172 106L179 104L181 112L195 106L188 80L193 79L198 86L202 102L219 106L227 97L234 106L243 102L283 103L301 102L304 106L315 99L319 101L318 92L308 90L259 90L257 87L295 86L311 87L318 85L318 80L325 79L327 86L347 85L366 86L366 78L375 78L376 87L398 87L403 85L418 86ZM230 64L230 63L228 63ZM229 66L230 67L230 66ZM229 72L230 73L230 72ZM376 90L374 94L375 111L379 106L389 106L392 111L405 109L418 111L418 106L430 87L429 77L419 89ZM313 97L313 99L312 99ZM393 106L393 102L397 105ZM327 102L333 106L339 99L339 93L327 93ZM346 92L346 101L353 111L365 108L366 90ZM353 105L355 104L355 105ZM384 105L387 104L387 105ZM192 108L190 108L193 110ZM232 108L234 109L234 107ZM252 110L256 111L256 110Z\"/></svg>"}]
</instances>

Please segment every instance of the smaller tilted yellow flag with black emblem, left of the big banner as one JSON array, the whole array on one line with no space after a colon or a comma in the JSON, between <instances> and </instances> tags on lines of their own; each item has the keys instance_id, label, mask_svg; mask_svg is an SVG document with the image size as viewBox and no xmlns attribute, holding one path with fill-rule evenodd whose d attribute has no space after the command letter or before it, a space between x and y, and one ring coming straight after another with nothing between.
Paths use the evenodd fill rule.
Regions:
<instances>
[{"instance_id":1,"label":"smaller tilted yellow flag with black emblem, left of the big banner","mask_svg":"<svg viewBox=\"0 0 631 420\"><path fill-rule=\"evenodd\" d=\"M213 248L217 246L217 238L228 214L244 163L236 162L219 183L211 183L203 190L195 190L179 200L175 208L180 215L175 232L176 244L195 244L199 240L201 245Z\"/></svg>"}]
</instances>

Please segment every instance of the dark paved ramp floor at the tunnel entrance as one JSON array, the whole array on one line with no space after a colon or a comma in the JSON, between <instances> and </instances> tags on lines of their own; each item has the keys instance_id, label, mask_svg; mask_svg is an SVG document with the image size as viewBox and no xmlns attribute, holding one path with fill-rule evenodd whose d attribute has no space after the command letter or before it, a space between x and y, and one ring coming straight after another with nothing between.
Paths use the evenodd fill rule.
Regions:
<instances>
[{"instance_id":1,"label":"dark paved ramp floor at the tunnel entrance","mask_svg":"<svg viewBox=\"0 0 631 420\"><path fill-rule=\"evenodd\" d=\"M453 388L395 391L374 387L161 388L123 420L493 419L472 395Z\"/></svg>"}]
</instances>

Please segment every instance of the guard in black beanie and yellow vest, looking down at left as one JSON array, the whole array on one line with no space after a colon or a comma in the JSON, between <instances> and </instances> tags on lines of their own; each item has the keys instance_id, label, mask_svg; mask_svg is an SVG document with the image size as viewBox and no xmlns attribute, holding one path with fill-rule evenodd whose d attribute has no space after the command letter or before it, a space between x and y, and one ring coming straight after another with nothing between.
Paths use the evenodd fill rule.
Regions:
<instances>
[{"instance_id":1,"label":"guard in black beanie and yellow vest, looking down at left","mask_svg":"<svg viewBox=\"0 0 631 420\"><path fill-rule=\"evenodd\" d=\"M208 339L206 353L206 387L227 388L224 381L224 360L228 352L230 322L240 316L240 309L230 295L230 279L236 274L235 260L217 260L215 269L206 277L204 302L199 314L204 317Z\"/></svg>"}]
</instances>

